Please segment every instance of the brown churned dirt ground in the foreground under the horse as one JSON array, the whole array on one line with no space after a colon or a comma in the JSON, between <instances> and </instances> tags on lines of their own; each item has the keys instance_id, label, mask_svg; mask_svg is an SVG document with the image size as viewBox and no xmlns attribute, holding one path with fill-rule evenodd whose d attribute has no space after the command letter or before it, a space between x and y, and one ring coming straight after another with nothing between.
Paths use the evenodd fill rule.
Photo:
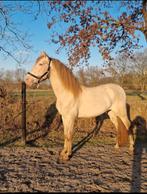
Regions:
<instances>
[{"instance_id":1,"label":"brown churned dirt ground in the foreground under the horse","mask_svg":"<svg viewBox=\"0 0 147 194\"><path fill-rule=\"evenodd\" d=\"M64 163L58 161L63 142L56 138L44 147L1 147L0 192L147 192L147 144L136 142L130 152L114 149L114 135L100 140L74 143Z\"/></svg>"}]
</instances>

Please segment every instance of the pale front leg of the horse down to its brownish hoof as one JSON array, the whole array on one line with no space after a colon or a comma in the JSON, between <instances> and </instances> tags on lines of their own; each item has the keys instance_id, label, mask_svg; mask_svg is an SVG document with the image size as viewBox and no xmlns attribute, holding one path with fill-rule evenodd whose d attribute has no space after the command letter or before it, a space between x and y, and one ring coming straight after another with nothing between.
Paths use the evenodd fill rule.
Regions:
<instances>
[{"instance_id":1,"label":"pale front leg of the horse down to its brownish hoof","mask_svg":"<svg viewBox=\"0 0 147 194\"><path fill-rule=\"evenodd\" d=\"M62 116L64 126L64 148L60 153L61 160L69 160L72 154L72 137L75 117L73 116Z\"/></svg>"}]
</instances>

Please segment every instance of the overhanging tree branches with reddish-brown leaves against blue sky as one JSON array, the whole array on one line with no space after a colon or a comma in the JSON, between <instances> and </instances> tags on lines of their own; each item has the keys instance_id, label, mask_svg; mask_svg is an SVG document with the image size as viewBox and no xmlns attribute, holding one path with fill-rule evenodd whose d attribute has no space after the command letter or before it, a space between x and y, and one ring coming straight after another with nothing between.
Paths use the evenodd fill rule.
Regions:
<instances>
[{"instance_id":1,"label":"overhanging tree branches with reddish-brown leaves against blue sky","mask_svg":"<svg viewBox=\"0 0 147 194\"><path fill-rule=\"evenodd\" d=\"M51 41L68 49L73 65L89 58L91 46L96 46L104 59L110 60L115 48L130 54L139 47L137 31L147 40L147 0L48 3ZM112 8L116 5L118 13L114 14ZM57 31L59 24L65 29Z\"/></svg>"}]
</instances>

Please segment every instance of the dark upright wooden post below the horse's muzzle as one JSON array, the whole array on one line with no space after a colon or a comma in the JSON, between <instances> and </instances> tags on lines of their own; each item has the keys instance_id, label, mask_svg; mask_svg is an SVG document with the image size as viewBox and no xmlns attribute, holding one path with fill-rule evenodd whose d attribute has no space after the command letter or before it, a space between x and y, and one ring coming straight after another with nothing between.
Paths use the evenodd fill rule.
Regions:
<instances>
[{"instance_id":1,"label":"dark upright wooden post below the horse's muzzle","mask_svg":"<svg viewBox=\"0 0 147 194\"><path fill-rule=\"evenodd\" d=\"M21 88L21 96L22 96L22 142L26 145L26 83L22 82Z\"/></svg>"}]
</instances>

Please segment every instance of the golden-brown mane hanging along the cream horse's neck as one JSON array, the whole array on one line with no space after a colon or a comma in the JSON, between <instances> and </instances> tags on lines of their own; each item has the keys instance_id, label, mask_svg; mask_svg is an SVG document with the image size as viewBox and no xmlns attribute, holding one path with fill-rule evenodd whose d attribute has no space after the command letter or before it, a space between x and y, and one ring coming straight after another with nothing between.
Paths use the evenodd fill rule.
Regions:
<instances>
[{"instance_id":1,"label":"golden-brown mane hanging along the cream horse's neck","mask_svg":"<svg viewBox=\"0 0 147 194\"><path fill-rule=\"evenodd\" d=\"M53 65L65 89L72 92L74 97L78 97L82 88L73 73L57 59L53 60Z\"/></svg>"}]
</instances>

